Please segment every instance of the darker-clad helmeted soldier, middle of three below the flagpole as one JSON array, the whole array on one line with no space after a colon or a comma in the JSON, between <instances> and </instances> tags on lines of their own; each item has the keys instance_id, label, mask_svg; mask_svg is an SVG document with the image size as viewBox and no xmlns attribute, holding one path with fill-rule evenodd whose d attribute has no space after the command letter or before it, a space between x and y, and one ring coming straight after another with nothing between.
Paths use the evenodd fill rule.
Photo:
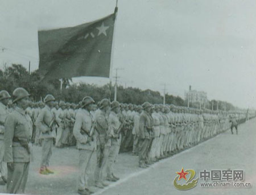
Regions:
<instances>
[{"instance_id":1,"label":"darker-clad helmeted soldier, middle of three below the flagpole","mask_svg":"<svg viewBox=\"0 0 256 195\"><path fill-rule=\"evenodd\" d=\"M106 168L107 160L109 157L109 151L111 147L111 135L109 128L108 117L110 113L110 102L109 99L102 99L98 105L99 109L96 111L96 131L98 132L98 143L100 146L97 147L97 165L95 171L96 186L103 188L108 186L103 181L103 171Z\"/></svg>"}]
</instances>

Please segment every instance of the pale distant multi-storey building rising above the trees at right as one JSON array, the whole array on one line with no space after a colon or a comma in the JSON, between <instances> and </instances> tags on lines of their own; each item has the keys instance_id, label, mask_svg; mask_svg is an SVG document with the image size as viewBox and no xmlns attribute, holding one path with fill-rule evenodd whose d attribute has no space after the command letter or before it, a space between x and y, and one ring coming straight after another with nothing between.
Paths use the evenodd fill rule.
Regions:
<instances>
[{"instance_id":1,"label":"pale distant multi-storey building rising above the trees at right","mask_svg":"<svg viewBox=\"0 0 256 195\"><path fill-rule=\"evenodd\" d=\"M208 102L207 93L206 92L199 92L197 90L192 90L191 85L189 85L188 92L185 92L185 101L189 103L201 103L205 105Z\"/></svg>"}]
</instances>

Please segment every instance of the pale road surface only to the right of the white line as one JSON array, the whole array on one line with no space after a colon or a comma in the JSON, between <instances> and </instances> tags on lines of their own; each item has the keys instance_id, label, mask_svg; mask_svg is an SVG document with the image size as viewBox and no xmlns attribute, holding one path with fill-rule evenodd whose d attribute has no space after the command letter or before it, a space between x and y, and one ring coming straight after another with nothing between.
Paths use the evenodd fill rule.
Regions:
<instances>
[{"instance_id":1,"label":"pale road surface only to the right of the white line","mask_svg":"<svg viewBox=\"0 0 256 195\"><path fill-rule=\"evenodd\" d=\"M239 135L230 131L201 143L187 151L160 161L145 171L135 173L119 184L101 190L97 194L256 194L256 119L247 121L239 127ZM191 190L180 191L174 188L176 172L181 168L194 169L196 177L199 172L209 170L243 170L245 180L251 188L202 188L199 184ZM181 180L180 180L181 181Z\"/></svg>"}]
</instances>

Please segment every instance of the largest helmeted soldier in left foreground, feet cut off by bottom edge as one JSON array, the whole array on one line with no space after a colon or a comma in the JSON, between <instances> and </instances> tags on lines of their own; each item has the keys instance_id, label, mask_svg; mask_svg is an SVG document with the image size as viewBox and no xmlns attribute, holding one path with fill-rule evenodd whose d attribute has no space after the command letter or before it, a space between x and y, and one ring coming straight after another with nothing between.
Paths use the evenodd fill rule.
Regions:
<instances>
[{"instance_id":1,"label":"largest helmeted soldier in left foreground, feet cut off by bottom edge","mask_svg":"<svg viewBox=\"0 0 256 195\"><path fill-rule=\"evenodd\" d=\"M5 155L7 163L7 193L24 193L31 160L32 121L26 108L30 102L27 90L16 88L13 92L15 110L5 122ZM11 146L11 147L10 147Z\"/></svg>"}]
</instances>

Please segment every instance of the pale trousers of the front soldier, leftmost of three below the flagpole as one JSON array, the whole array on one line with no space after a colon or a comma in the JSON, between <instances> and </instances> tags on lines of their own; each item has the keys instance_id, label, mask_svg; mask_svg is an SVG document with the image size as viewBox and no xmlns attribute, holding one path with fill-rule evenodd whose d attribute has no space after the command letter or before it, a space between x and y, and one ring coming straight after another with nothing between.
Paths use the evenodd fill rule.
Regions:
<instances>
[{"instance_id":1,"label":"pale trousers of the front soldier, leftmost of three below the flagpole","mask_svg":"<svg viewBox=\"0 0 256 195\"><path fill-rule=\"evenodd\" d=\"M79 150L79 177L77 180L77 189L79 190L88 188L88 179L92 169L94 153L95 151Z\"/></svg>"}]
</instances>

